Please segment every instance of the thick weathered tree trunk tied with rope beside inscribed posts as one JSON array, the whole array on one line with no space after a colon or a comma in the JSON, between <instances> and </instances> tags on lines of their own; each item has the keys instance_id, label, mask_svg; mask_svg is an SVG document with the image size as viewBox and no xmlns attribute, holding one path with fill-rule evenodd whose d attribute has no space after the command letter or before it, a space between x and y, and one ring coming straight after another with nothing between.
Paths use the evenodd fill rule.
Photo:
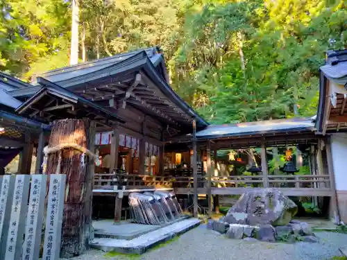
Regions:
<instances>
[{"instance_id":1,"label":"thick weathered tree trunk tied with rope beside inscribed posts","mask_svg":"<svg viewBox=\"0 0 347 260\"><path fill-rule=\"evenodd\" d=\"M58 144L76 144L94 153L93 130L94 123L88 119L54 121L49 148ZM82 254L92 236L94 158L84 156L80 150L65 148L49 154L46 172L48 175L67 175L60 257L69 259Z\"/></svg>"}]
</instances>

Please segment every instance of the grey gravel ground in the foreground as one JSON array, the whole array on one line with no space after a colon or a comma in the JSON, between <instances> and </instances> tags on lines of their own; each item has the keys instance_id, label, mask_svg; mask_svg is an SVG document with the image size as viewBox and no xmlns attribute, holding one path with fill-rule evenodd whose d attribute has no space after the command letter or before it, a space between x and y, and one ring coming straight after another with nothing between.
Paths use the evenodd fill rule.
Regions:
<instances>
[{"instance_id":1,"label":"grey gravel ground in the foreground","mask_svg":"<svg viewBox=\"0 0 347 260\"><path fill-rule=\"evenodd\" d=\"M246 242L226 237L201 225L180 238L141 256L105 254L90 250L73 260L325 260L341 256L340 246L347 245L347 234L316 232L320 243Z\"/></svg>"}]
</instances>

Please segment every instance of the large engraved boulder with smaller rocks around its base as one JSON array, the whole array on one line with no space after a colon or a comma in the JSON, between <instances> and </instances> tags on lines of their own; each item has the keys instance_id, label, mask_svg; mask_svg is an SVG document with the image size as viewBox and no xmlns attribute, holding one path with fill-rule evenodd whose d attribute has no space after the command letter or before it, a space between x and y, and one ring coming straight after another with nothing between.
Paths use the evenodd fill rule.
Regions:
<instances>
[{"instance_id":1,"label":"large engraved boulder with smaller rocks around its base","mask_svg":"<svg viewBox=\"0 0 347 260\"><path fill-rule=\"evenodd\" d=\"M277 189L254 189L244 193L225 217L210 221L208 228L230 239L318 242L307 223L291 220L297 209L296 204Z\"/></svg>"}]
</instances>

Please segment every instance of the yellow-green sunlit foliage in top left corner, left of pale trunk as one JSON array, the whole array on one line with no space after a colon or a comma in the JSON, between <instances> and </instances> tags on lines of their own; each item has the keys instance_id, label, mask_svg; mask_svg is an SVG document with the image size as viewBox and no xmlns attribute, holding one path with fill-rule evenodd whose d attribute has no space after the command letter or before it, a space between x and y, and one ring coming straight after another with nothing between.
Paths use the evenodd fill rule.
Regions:
<instances>
[{"instance_id":1,"label":"yellow-green sunlit foliage in top left corner, left of pale trunk","mask_svg":"<svg viewBox=\"0 0 347 260\"><path fill-rule=\"evenodd\" d=\"M60 55L60 51L66 54L70 30L68 3L60 0L1 3L1 71L29 78L34 72L52 67L47 63L54 60L53 56ZM35 70L26 74L31 67Z\"/></svg>"}]
</instances>

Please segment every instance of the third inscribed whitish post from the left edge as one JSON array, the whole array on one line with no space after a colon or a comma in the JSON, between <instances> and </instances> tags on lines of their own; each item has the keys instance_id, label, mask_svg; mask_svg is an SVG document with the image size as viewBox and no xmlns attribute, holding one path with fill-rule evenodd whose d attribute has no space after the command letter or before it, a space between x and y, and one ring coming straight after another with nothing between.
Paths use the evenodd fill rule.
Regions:
<instances>
[{"instance_id":1,"label":"third inscribed whitish post from the left edge","mask_svg":"<svg viewBox=\"0 0 347 260\"><path fill-rule=\"evenodd\" d=\"M46 183L47 175L33 175L31 179L22 260L39 259Z\"/></svg>"}]
</instances>

